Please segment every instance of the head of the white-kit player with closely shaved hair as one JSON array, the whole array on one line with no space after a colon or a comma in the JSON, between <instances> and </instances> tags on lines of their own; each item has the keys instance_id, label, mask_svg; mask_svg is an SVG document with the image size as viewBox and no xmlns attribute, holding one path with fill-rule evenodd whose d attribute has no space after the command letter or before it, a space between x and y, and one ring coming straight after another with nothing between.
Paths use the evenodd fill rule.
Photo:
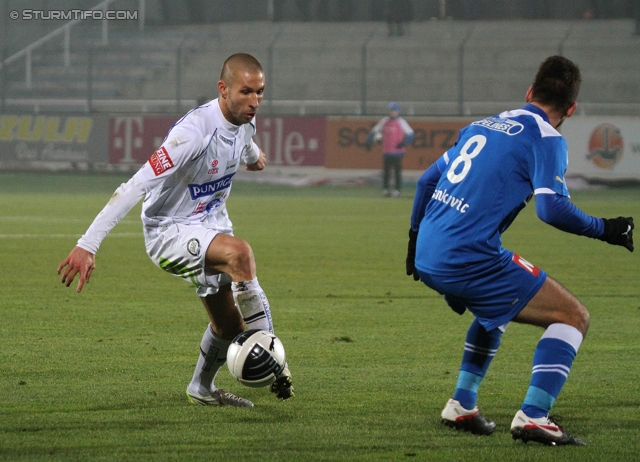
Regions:
<instances>
[{"instance_id":1,"label":"head of the white-kit player with closely shaved hair","mask_svg":"<svg viewBox=\"0 0 640 462\"><path fill-rule=\"evenodd\" d=\"M222 65L220 109L234 125L253 120L264 96L264 71L256 58L246 53L231 55Z\"/></svg>"}]
</instances>

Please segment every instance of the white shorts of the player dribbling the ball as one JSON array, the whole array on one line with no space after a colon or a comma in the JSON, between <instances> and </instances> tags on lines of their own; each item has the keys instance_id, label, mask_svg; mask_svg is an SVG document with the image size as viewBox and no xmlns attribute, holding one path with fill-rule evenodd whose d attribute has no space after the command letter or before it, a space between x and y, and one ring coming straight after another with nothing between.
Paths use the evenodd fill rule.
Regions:
<instances>
[{"instance_id":1,"label":"white shorts of the player dribbling the ball","mask_svg":"<svg viewBox=\"0 0 640 462\"><path fill-rule=\"evenodd\" d=\"M207 274L205 271L205 254L220 232L200 225L173 223L157 228L145 227L144 241L147 254L157 266L191 282L196 286L198 296L206 297L217 293L221 286L231 284L228 274Z\"/></svg>"}]
</instances>

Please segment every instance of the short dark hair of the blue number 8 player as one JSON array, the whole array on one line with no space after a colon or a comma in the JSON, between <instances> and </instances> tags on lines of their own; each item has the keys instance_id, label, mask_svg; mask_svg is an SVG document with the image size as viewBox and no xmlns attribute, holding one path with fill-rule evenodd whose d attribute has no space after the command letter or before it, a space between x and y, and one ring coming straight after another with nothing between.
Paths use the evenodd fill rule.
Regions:
<instances>
[{"instance_id":1,"label":"short dark hair of the blue number 8 player","mask_svg":"<svg viewBox=\"0 0 640 462\"><path fill-rule=\"evenodd\" d=\"M533 79L531 100L564 112L578 98L581 82L578 66L563 56L550 56Z\"/></svg>"}]
</instances>

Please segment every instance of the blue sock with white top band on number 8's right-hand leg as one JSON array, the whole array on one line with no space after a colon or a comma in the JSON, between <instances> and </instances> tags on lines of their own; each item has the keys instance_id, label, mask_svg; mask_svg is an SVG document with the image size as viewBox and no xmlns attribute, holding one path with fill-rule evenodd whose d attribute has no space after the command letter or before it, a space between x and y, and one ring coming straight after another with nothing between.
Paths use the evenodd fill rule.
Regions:
<instances>
[{"instance_id":1,"label":"blue sock with white top band on number 8's right-hand leg","mask_svg":"<svg viewBox=\"0 0 640 462\"><path fill-rule=\"evenodd\" d=\"M545 417L569 376L582 334L567 324L551 324L533 355L533 373L522 411L531 418Z\"/></svg>"}]
</instances>

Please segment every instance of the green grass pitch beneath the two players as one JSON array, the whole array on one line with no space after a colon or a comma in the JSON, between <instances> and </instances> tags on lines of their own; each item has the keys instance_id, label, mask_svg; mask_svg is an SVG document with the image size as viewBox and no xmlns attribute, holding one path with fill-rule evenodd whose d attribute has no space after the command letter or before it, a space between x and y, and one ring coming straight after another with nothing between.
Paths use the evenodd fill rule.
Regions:
<instances>
[{"instance_id":1,"label":"green grass pitch beneath the two players","mask_svg":"<svg viewBox=\"0 0 640 462\"><path fill-rule=\"evenodd\" d=\"M638 252L564 234L531 204L505 246L580 298L591 329L553 413L587 447L511 439L542 330L512 324L479 405L490 437L442 426L471 316L404 274L412 191L236 183L229 210L255 252L295 379L253 409L190 405L205 312L144 251L136 207L81 294L56 274L119 176L0 174L0 460L626 461L640 451ZM640 189L575 191L602 217L640 221ZM75 284L74 284L75 287Z\"/></svg>"}]
</instances>

